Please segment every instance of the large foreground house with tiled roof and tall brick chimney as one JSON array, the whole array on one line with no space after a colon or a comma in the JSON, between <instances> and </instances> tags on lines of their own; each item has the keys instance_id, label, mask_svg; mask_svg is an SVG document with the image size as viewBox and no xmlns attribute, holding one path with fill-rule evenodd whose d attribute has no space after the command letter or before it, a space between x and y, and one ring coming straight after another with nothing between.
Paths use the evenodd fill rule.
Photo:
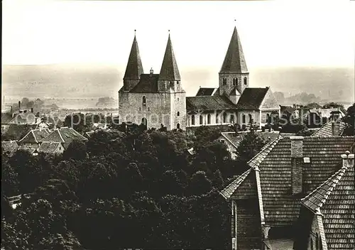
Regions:
<instances>
[{"instance_id":1,"label":"large foreground house with tiled roof and tall brick chimney","mask_svg":"<svg viewBox=\"0 0 355 250\"><path fill-rule=\"evenodd\" d=\"M320 190L318 187L342 168L342 154L346 151L354 152L353 136L279 136L266 144L249 161L250 169L236 177L221 192L231 202L232 249L293 249L295 237L300 231L300 210L307 200L303 198ZM354 168L354 161L351 164ZM346 192L349 192L346 195L354 197L354 188L350 188L351 185L354 187L354 182L347 182L346 185ZM332 202L329 205L334 207ZM335 206L335 210L342 207L340 203ZM346 217L348 215L344 213L339 214L339 229L342 218ZM328 222L327 219L325 222ZM354 217L352 222L354 224ZM332 224L329 225L332 227ZM308 226L304 225L305 228ZM313 228L307 234L317 234ZM339 239L350 235L346 230L337 232ZM309 242L308 238L306 241ZM341 246L344 246L332 248L332 241L332 237L322 236L318 244L327 246L323 249L342 249ZM351 244L349 242L348 245ZM354 244L351 247L353 249Z\"/></svg>"}]
</instances>

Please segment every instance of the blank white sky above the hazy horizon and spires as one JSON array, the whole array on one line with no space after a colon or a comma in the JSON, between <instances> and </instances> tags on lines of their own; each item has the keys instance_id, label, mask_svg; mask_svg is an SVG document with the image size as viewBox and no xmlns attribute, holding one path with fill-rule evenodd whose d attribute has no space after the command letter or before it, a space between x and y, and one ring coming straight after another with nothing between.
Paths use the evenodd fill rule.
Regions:
<instances>
[{"instance_id":1,"label":"blank white sky above the hazy horizon and spires","mask_svg":"<svg viewBox=\"0 0 355 250\"><path fill-rule=\"evenodd\" d=\"M220 68L236 26L249 68L354 67L355 1L2 4L3 64L125 65L136 29L145 72L160 70L168 30L179 67Z\"/></svg>"}]
</instances>

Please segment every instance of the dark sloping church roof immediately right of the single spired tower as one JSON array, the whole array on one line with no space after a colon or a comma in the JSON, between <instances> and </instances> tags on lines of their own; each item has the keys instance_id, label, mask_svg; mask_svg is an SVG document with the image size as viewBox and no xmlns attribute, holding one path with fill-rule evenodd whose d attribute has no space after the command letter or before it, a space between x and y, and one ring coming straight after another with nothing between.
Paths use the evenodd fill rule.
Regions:
<instances>
[{"instance_id":1,"label":"dark sloping church roof immediately right of the single spired tower","mask_svg":"<svg viewBox=\"0 0 355 250\"><path fill-rule=\"evenodd\" d=\"M241 94L236 107L238 109L259 109L268 87L247 87Z\"/></svg>"}]
</instances>

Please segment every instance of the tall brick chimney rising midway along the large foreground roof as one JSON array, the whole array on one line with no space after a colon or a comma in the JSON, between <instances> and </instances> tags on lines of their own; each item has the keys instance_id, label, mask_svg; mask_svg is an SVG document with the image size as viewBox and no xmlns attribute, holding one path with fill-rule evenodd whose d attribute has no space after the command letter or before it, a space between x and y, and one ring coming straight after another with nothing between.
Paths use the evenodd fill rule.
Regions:
<instances>
[{"instance_id":1,"label":"tall brick chimney rising midway along the large foreground roof","mask_svg":"<svg viewBox=\"0 0 355 250\"><path fill-rule=\"evenodd\" d=\"M302 192L303 136L290 136L291 178L293 195Z\"/></svg>"}]
</instances>

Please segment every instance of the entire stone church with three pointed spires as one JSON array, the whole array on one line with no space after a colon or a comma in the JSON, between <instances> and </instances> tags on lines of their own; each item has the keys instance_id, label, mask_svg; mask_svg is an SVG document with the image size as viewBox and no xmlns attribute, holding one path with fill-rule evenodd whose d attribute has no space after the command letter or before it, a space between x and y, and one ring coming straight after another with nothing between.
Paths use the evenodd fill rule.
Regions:
<instances>
[{"instance_id":1,"label":"entire stone church with three pointed spires","mask_svg":"<svg viewBox=\"0 0 355 250\"><path fill-rule=\"evenodd\" d=\"M270 87L249 87L238 32L234 27L219 71L219 87L200 87L195 97L182 88L170 34L159 74L144 74L136 36L119 90L119 121L147 128L186 129L194 126L236 125L261 128L280 116L280 106Z\"/></svg>"}]
</instances>

